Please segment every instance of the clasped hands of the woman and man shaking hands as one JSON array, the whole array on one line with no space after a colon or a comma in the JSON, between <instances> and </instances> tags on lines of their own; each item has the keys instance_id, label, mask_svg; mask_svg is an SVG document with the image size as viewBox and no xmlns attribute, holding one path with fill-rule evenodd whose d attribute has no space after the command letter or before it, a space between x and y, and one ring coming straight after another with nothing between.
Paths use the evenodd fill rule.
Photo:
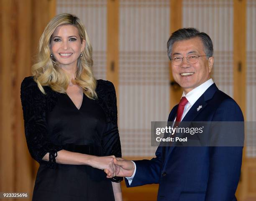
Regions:
<instances>
[{"instance_id":1,"label":"clasped hands of the woman and man shaking hands","mask_svg":"<svg viewBox=\"0 0 256 201\"><path fill-rule=\"evenodd\" d=\"M93 163L95 168L104 170L107 178L132 176L135 168L132 161L116 158L115 156L97 157L94 158Z\"/></svg>"}]
</instances>

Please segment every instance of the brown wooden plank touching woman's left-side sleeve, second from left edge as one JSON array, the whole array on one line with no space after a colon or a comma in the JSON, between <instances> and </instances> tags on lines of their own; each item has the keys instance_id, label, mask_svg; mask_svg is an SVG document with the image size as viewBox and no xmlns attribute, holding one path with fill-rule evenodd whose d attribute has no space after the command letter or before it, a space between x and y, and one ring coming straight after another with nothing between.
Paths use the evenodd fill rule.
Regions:
<instances>
[{"instance_id":1,"label":"brown wooden plank touching woman's left-side sleeve, second from left edge","mask_svg":"<svg viewBox=\"0 0 256 201\"><path fill-rule=\"evenodd\" d=\"M21 80L30 74L31 67L31 0L26 3L17 1L17 24L14 35L15 55L13 62L13 136L14 136L14 171L15 192L27 192L31 190L33 175L31 174L31 156L28 153L26 139L24 137L23 112L20 103Z\"/></svg>"}]
</instances>

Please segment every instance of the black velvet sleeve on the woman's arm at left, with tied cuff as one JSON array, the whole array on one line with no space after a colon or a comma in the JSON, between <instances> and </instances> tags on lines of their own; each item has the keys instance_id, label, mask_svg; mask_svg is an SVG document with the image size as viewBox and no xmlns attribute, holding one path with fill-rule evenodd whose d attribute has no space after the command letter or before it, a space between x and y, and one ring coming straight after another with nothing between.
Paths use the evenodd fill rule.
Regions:
<instances>
[{"instance_id":1,"label":"black velvet sleeve on the woman's arm at left, with tied cuff","mask_svg":"<svg viewBox=\"0 0 256 201\"><path fill-rule=\"evenodd\" d=\"M47 139L46 95L39 90L33 77L22 81L20 99L28 151L38 163L41 163L45 154L49 153L48 166L55 168L55 158L62 147L54 145Z\"/></svg>"}]
</instances>

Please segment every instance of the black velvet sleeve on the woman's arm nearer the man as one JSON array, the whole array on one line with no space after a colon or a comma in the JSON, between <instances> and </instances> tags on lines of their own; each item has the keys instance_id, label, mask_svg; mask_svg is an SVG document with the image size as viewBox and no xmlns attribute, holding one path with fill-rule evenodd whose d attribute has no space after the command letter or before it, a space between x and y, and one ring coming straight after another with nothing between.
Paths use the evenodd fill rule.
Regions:
<instances>
[{"instance_id":1,"label":"black velvet sleeve on the woman's arm nearer the man","mask_svg":"<svg viewBox=\"0 0 256 201\"><path fill-rule=\"evenodd\" d=\"M122 157L121 143L118 132L118 111L115 87L113 83L104 80L98 80L98 85L101 85L99 86L101 91L98 93L98 99L104 104L102 108L107 116L107 124L102 135L103 153L104 156L114 155L116 157ZM113 182L120 182L122 180L123 177L114 177L111 179Z\"/></svg>"}]
</instances>

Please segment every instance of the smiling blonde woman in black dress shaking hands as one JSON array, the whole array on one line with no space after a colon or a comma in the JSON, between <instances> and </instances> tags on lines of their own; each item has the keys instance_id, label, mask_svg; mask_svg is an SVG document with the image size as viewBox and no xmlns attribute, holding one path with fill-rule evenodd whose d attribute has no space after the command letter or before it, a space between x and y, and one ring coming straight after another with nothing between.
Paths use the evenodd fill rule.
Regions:
<instances>
[{"instance_id":1,"label":"smiling blonde woman in black dress shaking hands","mask_svg":"<svg viewBox=\"0 0 256 201\"><path fill-rule=\"evenodd\" d=\"M54 17L39 43L38 62L21 83L26 141L40 163L33 201L121 201L113 158L121 157L114 85L95 80L84 25Z\"/></svg>"}]
</instances>

